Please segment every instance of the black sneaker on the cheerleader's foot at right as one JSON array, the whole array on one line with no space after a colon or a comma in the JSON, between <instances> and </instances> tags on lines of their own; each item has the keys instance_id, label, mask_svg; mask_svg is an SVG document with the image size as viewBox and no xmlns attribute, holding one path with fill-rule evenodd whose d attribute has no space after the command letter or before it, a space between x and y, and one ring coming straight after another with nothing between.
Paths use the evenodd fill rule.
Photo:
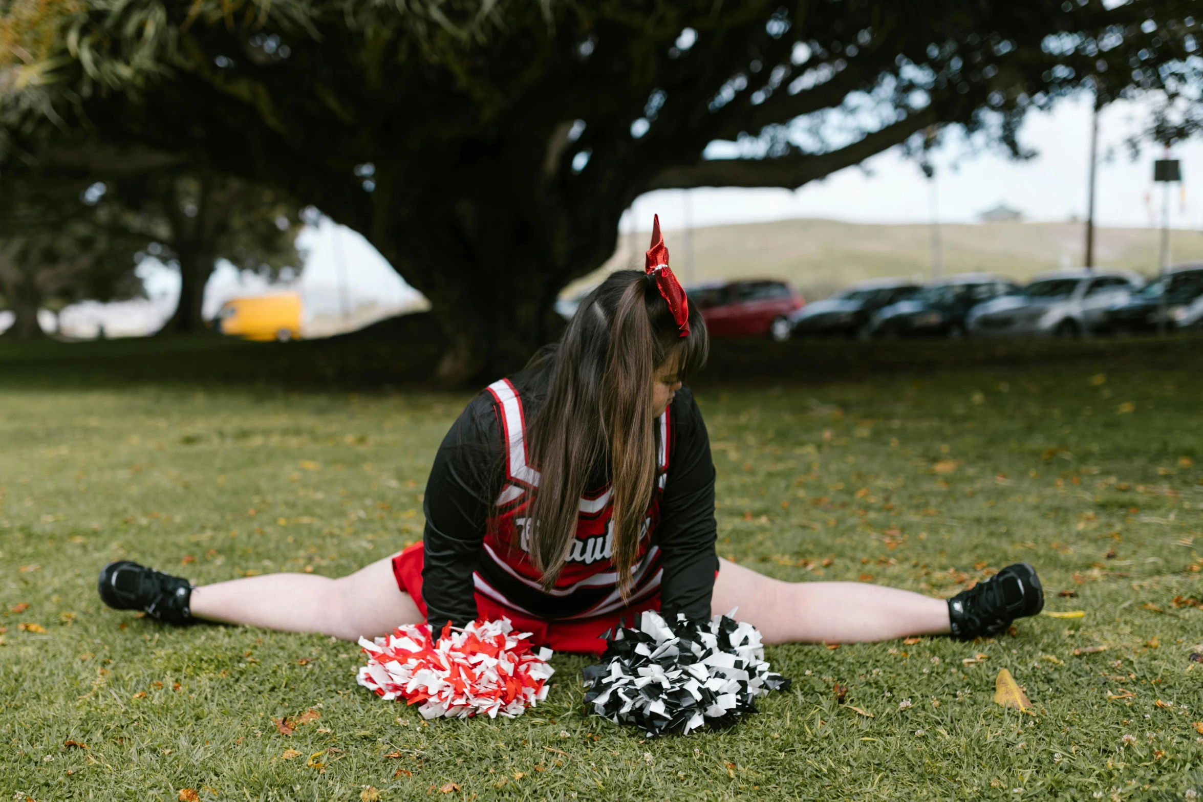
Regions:
<instances>
[{"instance_id":1,"label":"black sneaker on the cheerleader's foot at right","mask_svg":"<svg viewBox=\"0 0 1203 802\"><path fill-rule=\"evenodd\" d=\"M1006 631L1011 622L1044 608L1044 590L1027 563L1008 565L948 600L953 637L971 641Z\"/></svg>"}]
</instances>

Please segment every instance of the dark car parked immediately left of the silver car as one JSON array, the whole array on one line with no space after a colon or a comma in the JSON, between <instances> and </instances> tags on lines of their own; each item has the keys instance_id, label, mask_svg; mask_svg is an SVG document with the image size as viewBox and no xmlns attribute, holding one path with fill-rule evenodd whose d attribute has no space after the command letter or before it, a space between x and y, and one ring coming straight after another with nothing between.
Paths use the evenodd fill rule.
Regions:
<instances>
[{"instance_id":1,"label":"dark car parked immediately left of the silver car","mask_svg":"<svg viewBox=\"0 0 1203 802\"><path fill-rule=\"evenodd\" d=\"M882 308L869 323L871 337L965 337L965 316L979 303L1014 293L1011 279L961 273L932 281L906 301Z\"/></svg>"}]
</instances>

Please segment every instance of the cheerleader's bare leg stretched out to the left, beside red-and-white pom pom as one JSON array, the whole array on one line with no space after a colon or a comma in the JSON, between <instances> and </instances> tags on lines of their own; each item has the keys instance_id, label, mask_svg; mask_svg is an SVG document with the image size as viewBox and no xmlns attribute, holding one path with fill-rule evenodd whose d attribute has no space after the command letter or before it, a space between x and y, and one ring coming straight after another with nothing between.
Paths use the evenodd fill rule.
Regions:
<instances>
[{"instance_id":1,"label":"cheerleader's bare leg stretched out to the left, beside red-and-white pom pom","mask_svg":"<svg viewBox=\"0 0 1203 802\"><path fill-rule=\"evenodd\" d=\"M286 632L321 632L344 641L387 635L422 614L397 588L392 558L350 576L268 574L192 589L192 616L224 624L247 624Z\"/></svg>"}]
</instances>

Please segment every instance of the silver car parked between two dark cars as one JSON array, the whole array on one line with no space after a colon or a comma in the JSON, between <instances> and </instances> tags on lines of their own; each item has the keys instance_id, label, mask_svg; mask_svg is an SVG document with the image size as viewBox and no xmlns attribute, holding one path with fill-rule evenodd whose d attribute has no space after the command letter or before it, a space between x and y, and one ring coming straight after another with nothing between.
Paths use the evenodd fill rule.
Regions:
<instances>
[{"instance_id":1,"label":"silver car parked between two dark cars","mask_svg":"<svg viewBox=\"0 0 1203 802\"><path fill-rule=\"evenodd\" d=\"M976 337L1079 337L1144 279L1130 271L1068 267L1041 273L1014 295L978 304L966 319Z\"/></svg>"}]
</instances>

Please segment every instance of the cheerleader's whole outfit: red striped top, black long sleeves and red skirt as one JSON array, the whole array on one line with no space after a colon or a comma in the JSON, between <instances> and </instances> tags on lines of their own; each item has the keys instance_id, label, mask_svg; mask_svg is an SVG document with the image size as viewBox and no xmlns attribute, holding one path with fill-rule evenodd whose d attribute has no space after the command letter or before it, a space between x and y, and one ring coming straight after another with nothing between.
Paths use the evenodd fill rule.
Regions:
<instances>
[{"instance_id":1,"label":"cheerleader's whole outfit: red striped top, black long sleeves and red skirt","mask_svg":"<svg viewBox=\"0 0 1203 802\"><path fill-rule=\"evenodd\" d=\"M550 370L518 373L476 396L448 432L423 499L422 542L393 558L398 587L438 631L476 618L508 617L558 652L600 654L602 635L644 610L709 618L715 553L715 467L689 390L656 418L656 486L640 528L627 601L614 568L608 467L591 476L576 537L550 589L529 554L531 463L526 427L546 394Z\"/></svg>"}]
</instances>

